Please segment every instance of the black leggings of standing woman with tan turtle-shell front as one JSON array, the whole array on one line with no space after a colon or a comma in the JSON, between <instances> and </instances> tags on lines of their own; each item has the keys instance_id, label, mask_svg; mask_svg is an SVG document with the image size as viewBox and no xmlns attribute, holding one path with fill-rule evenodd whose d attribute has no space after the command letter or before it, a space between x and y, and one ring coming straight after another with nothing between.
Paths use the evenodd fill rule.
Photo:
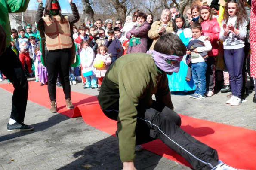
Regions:
<instances>
[{"instance_id":1,"label":"black leggings of standing woman with tan turtle-shell front","mask_svg":"<svg viewBox=\"0 0 256 170\"><path fill-rule=\"evenodd\" d=\"M69 68L71 53L69 49L48 51L45 56L45 64L48 73L48 93L50 100L56 100L56 80L59 80L65 94L65 99L71 98L69 84Z\"/></svg>"}]
</instances>

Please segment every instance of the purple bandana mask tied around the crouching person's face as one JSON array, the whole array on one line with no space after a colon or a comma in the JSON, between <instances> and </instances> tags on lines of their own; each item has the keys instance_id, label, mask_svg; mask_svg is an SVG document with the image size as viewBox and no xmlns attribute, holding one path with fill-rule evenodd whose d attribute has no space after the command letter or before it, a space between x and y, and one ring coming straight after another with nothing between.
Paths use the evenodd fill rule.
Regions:
<instances>
[{"instance_id":1,"label":"purple bandana mask tied around the crouching person's face","mask_svg":"<svg viewBox=\"0 0 256 170\"><path fill-rule=\"evenodd\" d=\"M183 56L162 54L155 50L149 50L147 54L152 55L152 59L157 67L165 73L177 73L179 71L179 63L182 61Z\"/></svg>"}]
</instances>

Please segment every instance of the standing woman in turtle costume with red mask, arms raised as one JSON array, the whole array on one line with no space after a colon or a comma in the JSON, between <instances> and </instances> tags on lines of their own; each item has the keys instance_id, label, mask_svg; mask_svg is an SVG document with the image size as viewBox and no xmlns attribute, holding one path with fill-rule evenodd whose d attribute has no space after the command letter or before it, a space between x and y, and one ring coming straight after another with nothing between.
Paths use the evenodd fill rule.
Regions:
<instances>
[{"instance_id":1,"label":"standing woman in turtle costume with red mask, arms raised","mask_svg":"<svg viewBox=\"0 0 256 170\"><path fill-rule=\"evenodd\" d=\"M56 80L58 73L65 94L66 107L67 109L74 109L71 103L69 68L76 60L74 40L71 38L71 34L73 33L73 24L79 20L77 7L72 3L72 0L68 0L73 15L64 16L61 14L61 8L57 0L46 0L45 8L43 7L42 0L37 0L37 2L39 6L35 20L38 30L42 30L40 34L44 33L46 42L47 54L45 56L42 54L44 56L42 62L47 67L48 73L48 93L51 102L50 112L57 112ZM43 53L44 50L42 49L41 52Z\"/></svg>"}]
</instances>

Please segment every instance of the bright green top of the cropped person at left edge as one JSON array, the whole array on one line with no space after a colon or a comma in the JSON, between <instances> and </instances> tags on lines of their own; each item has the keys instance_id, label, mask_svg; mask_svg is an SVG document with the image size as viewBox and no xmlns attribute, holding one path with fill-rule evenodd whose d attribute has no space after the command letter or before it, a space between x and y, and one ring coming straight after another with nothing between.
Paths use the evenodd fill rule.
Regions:
<instances>
[{"instance_id":1,"label":"bright green top of the cropped person at left edge","mask_svg":"<svg viewBox=\"0 0 256 170\"><path fill-rule=\"evenodd\" d=\"M11 43L11 26L9 13L25 12L28 7L28 3L29 0L1 0L0 24L7 35L6 47L9 47Z\"/></svg>"}]
</instances>

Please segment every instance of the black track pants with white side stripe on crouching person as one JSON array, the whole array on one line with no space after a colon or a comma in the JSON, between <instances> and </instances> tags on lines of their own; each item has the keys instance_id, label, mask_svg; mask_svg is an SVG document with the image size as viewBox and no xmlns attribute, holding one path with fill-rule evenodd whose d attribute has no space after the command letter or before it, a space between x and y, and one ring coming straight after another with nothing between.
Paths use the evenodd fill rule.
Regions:
<instances>
[{"instance_id":1,"label":"black track pants with white side stripe on crouching person","mask_svg":"<svg viewBox=\"0 0 256 170\"><path fill-rule=\"evenodd\" d=\"M103 110L113 120L118 117L118 104ZM218 164L217 151L183 131L181 118L172 109L153 101L153 105L137 106L136 145L160 139L185 158L196 170L210 170Z\"/></svg>"}]
</instances>

